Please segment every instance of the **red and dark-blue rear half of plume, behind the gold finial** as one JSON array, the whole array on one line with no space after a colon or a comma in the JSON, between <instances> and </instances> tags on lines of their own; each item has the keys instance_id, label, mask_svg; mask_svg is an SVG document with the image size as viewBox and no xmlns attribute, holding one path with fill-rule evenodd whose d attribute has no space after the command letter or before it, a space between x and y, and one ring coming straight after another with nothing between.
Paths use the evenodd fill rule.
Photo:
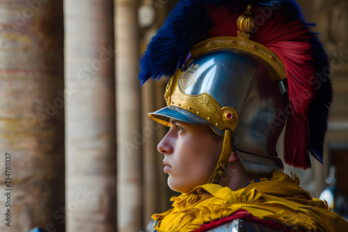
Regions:
<instances>
[{"instance_id":1,"label":"red and dark-blue rear half of plume, behind the gold finial","mask_svg":"<svg viewBox=\"0 0 348 232\"><path fill-rule=\"evenodd\" d=\"M303 20L295 1L283 1L267 22L252 35L276 53L287 70L289 106L284 139L285 162L294 167L310 167L308 151L322 163L324 135L332 101L331 83L322 83L318 91L315 75L329 67L326 53L315 33ZM264 8L255 9L262 15ZM291 13L291 14L290 14Z\"/></svg>"}]
</instances>

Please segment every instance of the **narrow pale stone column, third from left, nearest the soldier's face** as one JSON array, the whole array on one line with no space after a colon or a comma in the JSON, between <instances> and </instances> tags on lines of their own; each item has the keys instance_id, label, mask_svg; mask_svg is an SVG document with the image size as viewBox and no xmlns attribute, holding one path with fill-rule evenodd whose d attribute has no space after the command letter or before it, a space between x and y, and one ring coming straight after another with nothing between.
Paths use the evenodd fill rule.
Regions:
<instances>
[{"instance_id":1,"label":"narrow pale stone column, third from left, nearest the soldier's face","mask_svg":"<svg viewBox=\"0 0 348 232\"><path fill-rule=\"evenodd\" d=\"M118 231L141 231L141 99L136 0L115 0Z\"/></svg>"}]
</instances>

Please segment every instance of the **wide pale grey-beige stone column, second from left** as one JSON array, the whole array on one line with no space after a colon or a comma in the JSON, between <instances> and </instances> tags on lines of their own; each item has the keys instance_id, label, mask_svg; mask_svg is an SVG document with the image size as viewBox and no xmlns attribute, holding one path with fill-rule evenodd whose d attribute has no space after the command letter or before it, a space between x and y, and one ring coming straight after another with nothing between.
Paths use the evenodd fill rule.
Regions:
<instances>
[{"instance_id":1,"label":"wide pale grey-beige stone column, second from left","mask_svg":"<svg viewBox=\"0 0 348 232\"><path fill-rule=\"evenodd\" d=\"M64 13L67 231L116 231L113 1Z\"/></svg>"}]
</instances>

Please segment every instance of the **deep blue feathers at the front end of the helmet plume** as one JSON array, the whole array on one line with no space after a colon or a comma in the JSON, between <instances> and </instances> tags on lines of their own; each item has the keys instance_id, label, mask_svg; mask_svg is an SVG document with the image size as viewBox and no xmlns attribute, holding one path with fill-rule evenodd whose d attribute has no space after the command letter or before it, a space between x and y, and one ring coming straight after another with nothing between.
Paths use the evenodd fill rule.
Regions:
<instances>
[{"instance_id":1,"label":"deep blue feathers at the front end of the helmet plume","mask_svg":"<svg viewBox=\"0 0 348 232\"><path fill-rule=\"evenodd\" d=\"M149 78L172 76L184 64L194 44L207 39L212 26L205 6L219 6L228 0L181 0L152 38L141 58L141 84Z\"/></svg>"}]
</instances>

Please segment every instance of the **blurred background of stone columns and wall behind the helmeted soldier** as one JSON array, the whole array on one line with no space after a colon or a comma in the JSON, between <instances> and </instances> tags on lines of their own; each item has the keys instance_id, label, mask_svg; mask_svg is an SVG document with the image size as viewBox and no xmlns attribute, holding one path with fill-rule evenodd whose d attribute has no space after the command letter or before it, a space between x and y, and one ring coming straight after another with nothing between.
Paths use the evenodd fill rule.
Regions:
<instances>
[{"instance_id":1,"label":"blurred background of stone columns and wall behind the helmeted soldier","mask_svg":"<svg viewBox=\"0 0 348 232\"><path fill-rule=\"evenodd\" d=\"M0 1L0 231L142 231L171 207L177 193L157 151L166 128L147 116L164 106L168 79L140 88L137 74L175 3ZM335 99L324 165L285 172L313 197L329 188L345 206L348 2L299 3L321 33Z\"/></svg>"}]
</instances>

